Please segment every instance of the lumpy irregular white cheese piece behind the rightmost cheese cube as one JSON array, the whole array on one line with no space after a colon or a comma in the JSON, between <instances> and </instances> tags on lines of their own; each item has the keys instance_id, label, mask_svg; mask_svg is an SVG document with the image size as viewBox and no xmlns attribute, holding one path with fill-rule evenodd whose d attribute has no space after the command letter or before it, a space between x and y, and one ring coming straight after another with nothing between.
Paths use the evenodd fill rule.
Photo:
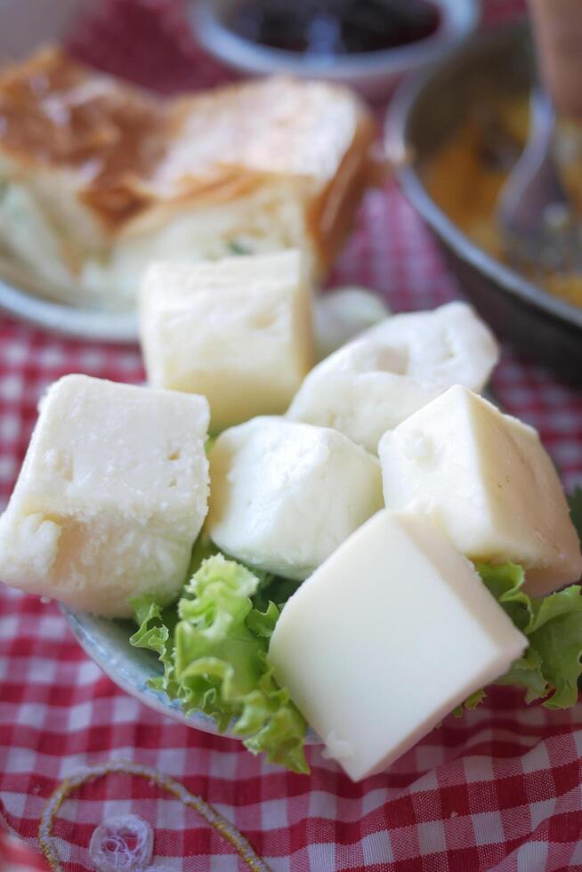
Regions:
<instances>
[{"instance_id":1,"label":"lumpy irregular white cheese piece behind the rightmost cheese cube","mask_svg":"<svg viewBox=\"0 0 582 872\"><path fill-rule=\"evenodd\" d=\"M376 452L386 430L452 384L481 391L497 359L493 335L465 303L393 315L312 369L287 415Z\"/></svg>"}]
</instances>

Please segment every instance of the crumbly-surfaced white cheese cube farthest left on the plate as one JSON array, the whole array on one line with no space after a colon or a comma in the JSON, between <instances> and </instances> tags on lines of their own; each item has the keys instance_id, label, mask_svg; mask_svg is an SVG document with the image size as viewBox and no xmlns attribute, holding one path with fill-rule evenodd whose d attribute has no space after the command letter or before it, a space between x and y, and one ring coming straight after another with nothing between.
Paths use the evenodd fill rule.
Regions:
<instances>
[{"instance_id":1,"label":"crumbly-surfaced white cheese cube farthest left on the plate","mask_svg":"<svg viewBox=\"0 0 582 872\"><path fill-rule=\"evenodd\" d=\"M206 516L209 416L204 397L53 384L0 518L0 578L106 617L172 600Z\"/></svg>"}]
</instances>

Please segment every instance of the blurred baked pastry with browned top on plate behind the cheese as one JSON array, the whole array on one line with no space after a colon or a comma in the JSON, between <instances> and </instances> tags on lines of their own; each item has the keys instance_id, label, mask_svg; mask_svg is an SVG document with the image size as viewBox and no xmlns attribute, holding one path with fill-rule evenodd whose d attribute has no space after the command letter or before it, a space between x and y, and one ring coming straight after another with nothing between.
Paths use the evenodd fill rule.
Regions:
<instances>
[{"instance_id":1,"label":"blurred baked pastry with browned top on plate behind the cheese","mask_svg":"<svg viewBox=\"0 0 582 872\"><path fill-rule=\"evenodd\" d=\"M133 304L153 259L299 247L320 278L374 135L335 85L161 99L46 49L0 76L0 256L44 295L109 308Z\"/></svg>"}]
</instances>

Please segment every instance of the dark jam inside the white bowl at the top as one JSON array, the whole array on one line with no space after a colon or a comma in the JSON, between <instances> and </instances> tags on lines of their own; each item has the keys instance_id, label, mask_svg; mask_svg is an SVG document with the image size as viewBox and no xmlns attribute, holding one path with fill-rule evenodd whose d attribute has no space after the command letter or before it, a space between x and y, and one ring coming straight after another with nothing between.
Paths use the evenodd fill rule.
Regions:
<instances>
[{"instance_id":1,"label":"dark jam inside the white bowl at the top","mask_svg":"<svg viewBox=\"0 0 582 872\"><path fill-rule=\"evenodd\" d=\"M428 0L238 0L227 23L251 42L328 56L416 43L441 15Z\"/></svg>"}]
</instances>

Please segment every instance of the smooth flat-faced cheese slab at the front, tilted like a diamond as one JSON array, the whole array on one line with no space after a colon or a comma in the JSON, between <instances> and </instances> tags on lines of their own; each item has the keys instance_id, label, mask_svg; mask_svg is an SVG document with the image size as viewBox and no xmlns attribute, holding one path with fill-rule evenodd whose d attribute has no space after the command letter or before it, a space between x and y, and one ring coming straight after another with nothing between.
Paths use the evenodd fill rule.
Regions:
<instances>
[{"instance_id":1,"label":"smooth flat-faced cheese slab at the front, tilted like a diamond","mask_svg":"<svg viewBox=\"0 0 582 872\"><path fill-rule=\"evenodd\" d=\"M384 510L288 600L269 658L328 755L357 781L404 754L526 646L431 521Z\"/></svg>"}]
</instances>

